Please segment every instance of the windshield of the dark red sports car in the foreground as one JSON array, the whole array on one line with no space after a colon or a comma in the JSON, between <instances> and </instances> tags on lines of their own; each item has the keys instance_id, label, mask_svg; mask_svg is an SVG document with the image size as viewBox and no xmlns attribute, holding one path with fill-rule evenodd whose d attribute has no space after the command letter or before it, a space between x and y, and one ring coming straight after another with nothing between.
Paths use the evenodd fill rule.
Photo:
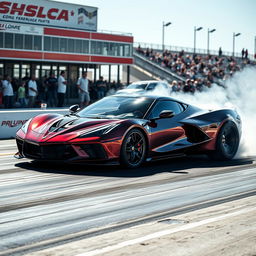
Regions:
<instances>
[{"instance_id":1,"label":"windshield of the dark red sports car in the foreground","mask_svg":"<svg viewBox=\"0 0 256 256\"><path fill-rule=\"evenodd\" d=\"M143 118L154 99L109 96L77 113L84 118Z\"/></svg>"}]
</instances>

